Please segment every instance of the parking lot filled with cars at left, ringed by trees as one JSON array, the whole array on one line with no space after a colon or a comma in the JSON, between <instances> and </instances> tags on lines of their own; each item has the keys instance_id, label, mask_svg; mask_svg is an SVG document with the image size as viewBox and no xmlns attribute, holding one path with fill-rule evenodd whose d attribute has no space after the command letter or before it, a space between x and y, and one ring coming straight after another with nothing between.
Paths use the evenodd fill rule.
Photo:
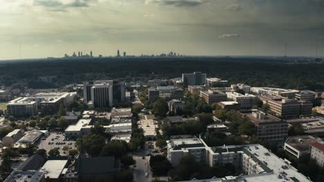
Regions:
<instances>
[{"instance_id":1,"label":"parking lot filled with cars at left, ringed by trees","mask_svg":"<svg viewBox=\"0 0 324 182\"><path fill-rule=\"evenodd\" d=\"M44 149L47 152L50 151L53 148L58 148L60 150L60 155L65 156L67 155L67 151L64 154L64 151L62 148L67 145L69 146L70 150L71 149L76 149L75 148L75 141L73 140L67 140L64 137L64 134L62 132L51 132L48 136L43 137L39 141L38 148L39 149Z\"/></svg>"}]
</instances>

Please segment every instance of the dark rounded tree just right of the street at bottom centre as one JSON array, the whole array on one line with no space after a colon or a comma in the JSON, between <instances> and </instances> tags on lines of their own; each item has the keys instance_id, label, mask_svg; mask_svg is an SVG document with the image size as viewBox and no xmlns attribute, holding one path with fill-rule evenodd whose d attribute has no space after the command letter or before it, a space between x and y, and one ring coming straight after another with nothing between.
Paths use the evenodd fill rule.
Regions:
<instances>
[{"instance_id":1,"label":"dark rounded tree just right of the street at bottom centre","mask_svg":"<svg viewBox=\"0 0 324 182\"><path fill-rule=\"evenodd\" d=\"M168 174L171 164L163 155L155 155L150 157L150 167L153 174L158 176Z\"/></svg>"}]
</instances>

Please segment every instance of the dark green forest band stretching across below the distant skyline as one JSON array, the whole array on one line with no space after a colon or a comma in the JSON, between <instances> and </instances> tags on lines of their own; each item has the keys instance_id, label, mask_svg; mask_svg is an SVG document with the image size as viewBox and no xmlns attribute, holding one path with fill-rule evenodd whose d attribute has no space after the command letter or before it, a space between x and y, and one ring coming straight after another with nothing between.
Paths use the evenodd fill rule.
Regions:
<instances>
[{"instance_id":1,"label":"dark green forest band stretching across below the distant skyline","mask_svg":"<svg viewBox=\"0 0 324 182\"><path fill-rule=\"evenodd\" d=\"M235 66L234 66L235 65ZM72 69L73 68L73 69ZM39 77L57 76L56 85L82 83L93 79L181 77L183 72L206 72L208 77L228 79L230 83L324 90L324 64L288 64L279 59L191 57L174 59L56 59L0 62L0 85L28 83L39 85Z\"/></svg>"}]
</instances>

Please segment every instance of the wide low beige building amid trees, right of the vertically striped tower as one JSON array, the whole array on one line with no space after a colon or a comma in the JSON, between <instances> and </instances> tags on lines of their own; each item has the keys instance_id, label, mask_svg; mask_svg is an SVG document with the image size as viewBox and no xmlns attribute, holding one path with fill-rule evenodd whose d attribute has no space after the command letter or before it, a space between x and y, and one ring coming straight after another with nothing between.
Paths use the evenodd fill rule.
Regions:
<instances>
[{"instance_id":1,"label":"wide low beige building amid trees, right of the vertically striped tower","mask_svg":"<svg viewBox=\"0 0 324 182\"><path fill-rule=\"evenodd\" d=\"M172 99L183 99L183 89L175 88L173 86L159 86L157 88L148 89L148 97L151 101L154 101L159 98L164 98L166 100Z\"/></svg>"}]
</instances>

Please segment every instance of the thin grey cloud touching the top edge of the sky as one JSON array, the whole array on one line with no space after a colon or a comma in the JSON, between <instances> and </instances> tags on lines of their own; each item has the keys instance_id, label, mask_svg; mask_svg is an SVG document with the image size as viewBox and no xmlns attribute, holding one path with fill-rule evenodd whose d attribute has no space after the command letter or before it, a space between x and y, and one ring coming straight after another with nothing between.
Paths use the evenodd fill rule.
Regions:
<instances>
[{"instance_id":1,"label":"thin grey cloud touching the top edge of the sky","mask_svg":"<svg viewBox=\"0 0 324 182\"><path fill-rule=\"evenodd\" d=\"M145 4L156 3L159 5L170 5L178 7L199 6L206 0L145 0Z\"/></svg>"}]
</instances>

